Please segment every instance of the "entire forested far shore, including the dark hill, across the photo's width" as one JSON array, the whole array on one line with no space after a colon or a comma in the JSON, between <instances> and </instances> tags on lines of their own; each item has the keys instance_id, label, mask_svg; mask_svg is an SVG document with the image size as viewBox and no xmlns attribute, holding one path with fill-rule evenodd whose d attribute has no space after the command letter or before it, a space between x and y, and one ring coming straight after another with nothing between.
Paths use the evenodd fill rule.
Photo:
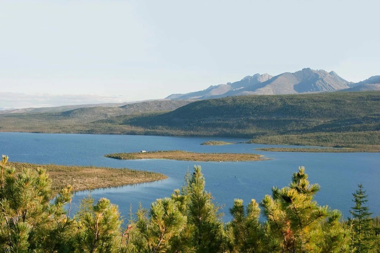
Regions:
<instances>
[{"instance_id":1,"label":"entire forested far shore, including the dark hill, across the photo's width","mask_svg":"<svg viewBox=\"0 0 380 253\"><path fill-rule=\"evenodd\" d=\"M249 95L100 120L62 113L0 115L0 131L228 136L256 143L337 145L378 152L379 112L377 91Z\"/></svg>"}]
</instances>

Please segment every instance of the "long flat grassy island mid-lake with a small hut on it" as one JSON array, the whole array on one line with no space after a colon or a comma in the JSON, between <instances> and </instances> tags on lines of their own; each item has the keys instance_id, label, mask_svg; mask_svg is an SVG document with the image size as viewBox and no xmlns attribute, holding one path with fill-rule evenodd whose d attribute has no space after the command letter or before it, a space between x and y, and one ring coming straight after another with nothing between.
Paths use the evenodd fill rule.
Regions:
<instances>
[{"instance_id":1,"label":"long flat grassy island mid-lake with a small hut on it","mask_svg":"<svg viewBox=\"0 0 380 253\"><path fill-rule=\"evenodd\" d=\"M259 161L262 155L238 153L194 153L181 150L152 151L136 153L114 153L105 157L135 160L135 159L169 159L181 161Z\"/></svg>"}]
</instances>

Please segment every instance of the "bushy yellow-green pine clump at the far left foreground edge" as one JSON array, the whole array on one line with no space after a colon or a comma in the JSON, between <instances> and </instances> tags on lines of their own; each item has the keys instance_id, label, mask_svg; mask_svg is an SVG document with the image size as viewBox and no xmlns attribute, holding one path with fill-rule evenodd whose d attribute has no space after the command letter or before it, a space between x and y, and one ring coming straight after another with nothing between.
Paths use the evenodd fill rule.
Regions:
<instances>
[{"instance_id":1,"label":"bushy yellow-green pine clump at the far left foreground edge","mask_svg":"<svg viewBox=\"0 0 380 253\"><path fill-rule=\"evenodd\" d=\"M69 246L70 218L63 206L71 201L70 186L51 203L51 179L44 169L23 168L16 174L1 162L0 248L3 252L58 251Z\"/></svg>"}]
</instances>

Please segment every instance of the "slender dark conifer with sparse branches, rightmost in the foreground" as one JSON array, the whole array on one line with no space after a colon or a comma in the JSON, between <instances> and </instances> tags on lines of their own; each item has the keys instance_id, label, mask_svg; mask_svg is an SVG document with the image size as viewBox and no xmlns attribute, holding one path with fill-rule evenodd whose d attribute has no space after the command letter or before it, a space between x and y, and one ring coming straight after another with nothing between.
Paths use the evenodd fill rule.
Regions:
<instances>
[{"instance_id":1,"label":"slender dark conifer with sparse branches, rightmost in the foreground","mask_svg":"<svg viewBox=\"0 0 380 253\"><path fill-rule=\"evenodd\" d=\"M351 252L370 252L374 247L375 231L370 217L372 213L369 212L369 207L365 206L368 195L361 183L352 195L355 206L350 211L351 218L348 218L348 223L352 223Z\"/></svg>"}]
</instances>

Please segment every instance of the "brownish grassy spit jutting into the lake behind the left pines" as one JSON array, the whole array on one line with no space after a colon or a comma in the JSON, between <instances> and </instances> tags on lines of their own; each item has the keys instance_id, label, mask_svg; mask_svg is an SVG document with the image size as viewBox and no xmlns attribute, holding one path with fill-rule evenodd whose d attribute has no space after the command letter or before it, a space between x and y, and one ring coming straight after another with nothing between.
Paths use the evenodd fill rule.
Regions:
<instances>
[{"instance_id":1,"label":"brownish grassy spit jutting into the lake behind the left pines","mask_svg":"<svg viewBox=\"0 0 380 253\"><path fill-rule=\"evenodd\" d=\"M161 173L150 171L139 171L135 169L116 169L94 166L63 166L55 164L30 164L8 162L9 167L21 171L22 168L36 169L38 167L46 169L52 179L52 190L58 192L59 189L70 184L74 191L88 190L101 187L112 187L128 185L133 183L152 182L166 179L167 176Z\"/></svg>"}]
</instances>

